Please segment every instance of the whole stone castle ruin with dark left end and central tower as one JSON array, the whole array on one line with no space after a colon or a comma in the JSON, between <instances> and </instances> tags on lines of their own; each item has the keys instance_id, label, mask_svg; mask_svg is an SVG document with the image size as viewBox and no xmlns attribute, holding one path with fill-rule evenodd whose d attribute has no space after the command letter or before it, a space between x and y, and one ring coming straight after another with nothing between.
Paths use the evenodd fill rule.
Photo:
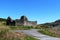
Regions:
<instances>
[{"instance_id":1,"label":"whole stone castle ruin with dark left end and central tower","mask_svg":"<svg viewBox=\"0 0 60 40\"><path fill-rule=\"evenodd\" d=\"M12 20L10 17L6 20L6 25L13 26L36 26L37 21L29 21L26 16L21 16L20 19Z\"/></svg>"}]
</instances>

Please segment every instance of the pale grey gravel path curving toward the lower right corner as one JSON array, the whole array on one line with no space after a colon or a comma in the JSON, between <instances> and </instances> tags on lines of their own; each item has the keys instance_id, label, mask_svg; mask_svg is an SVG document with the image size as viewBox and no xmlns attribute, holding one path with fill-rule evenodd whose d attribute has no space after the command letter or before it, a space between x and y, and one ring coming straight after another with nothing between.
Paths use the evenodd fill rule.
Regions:
<instances>
[{"instance_id":1,"label":"pale grey gravel path curving toward the lower right corner","mask_svg":"<svg viewBox=\"0 0 60 40\"><path fill-rule=\"evenodd\" d=\"M36 29L32 30L16 30L16 32L23 32L24 34L33 36L39 40L60 40L60 38L50 37L47 35L43 35L41 33L38 33Z\"/></svg>"}]
</instances>

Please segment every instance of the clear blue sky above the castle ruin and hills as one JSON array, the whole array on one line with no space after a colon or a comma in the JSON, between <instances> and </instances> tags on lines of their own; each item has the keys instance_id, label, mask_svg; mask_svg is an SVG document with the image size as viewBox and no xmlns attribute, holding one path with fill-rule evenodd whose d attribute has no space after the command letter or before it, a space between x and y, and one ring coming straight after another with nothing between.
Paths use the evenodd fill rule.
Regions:
<instances>
[{"instance_id":1,"label":"clear blue sky above the castle ruin and hills","mask_svg":"<svg viewBox=\"0 0 60 40\"><path fill-rule=\"evenodd\" d=\"M0 0L0 18L25 15L38 24L60 19L60 0Z\"/></svg>"}]
</instances>

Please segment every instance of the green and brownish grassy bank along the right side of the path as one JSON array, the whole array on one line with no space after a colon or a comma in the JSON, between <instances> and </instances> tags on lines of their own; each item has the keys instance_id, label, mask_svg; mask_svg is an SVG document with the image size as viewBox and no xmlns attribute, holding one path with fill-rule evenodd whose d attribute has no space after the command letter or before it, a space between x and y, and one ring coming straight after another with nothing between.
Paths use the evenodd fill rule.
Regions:
<instances>
[{"instance_id":1,"label":"green and brownish grassy bank along the right side of the path","mask_svg":"<svg viewBox=\"0 0 60 40\"><path fill-rule=\"evenodd\" d=\"M45 35L49 35L49 36L53 36L53 37L59 37L60 38L60 31L56 31L56 29L52 29L52 28L41 28L38 32L45 34Z\"/></svg>"}]
</instances>

